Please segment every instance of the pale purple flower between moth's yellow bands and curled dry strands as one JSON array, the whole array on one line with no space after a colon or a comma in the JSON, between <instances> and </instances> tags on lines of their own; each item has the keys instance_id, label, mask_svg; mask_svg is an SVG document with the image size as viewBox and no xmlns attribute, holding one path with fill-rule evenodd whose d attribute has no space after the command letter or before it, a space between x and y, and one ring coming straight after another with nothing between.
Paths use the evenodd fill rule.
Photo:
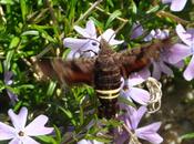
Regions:
<instances>
[{"instance_id":1,"label":"pale purple flower between moth's yellow bands and curled dry strands","mask_svg":"<svg viewBox=\"0 0 194 144\"><path fill-rule=\"evenodd\" d=\"M147 105L150 101L150 93L143 89L135 88L143 83L150 76L150 72L143 70L139 73L133 73L127 80L125 80L121 88L120 95L127 99L129 101L135 101L142 105Z\"/></svg>"}]
</instances>

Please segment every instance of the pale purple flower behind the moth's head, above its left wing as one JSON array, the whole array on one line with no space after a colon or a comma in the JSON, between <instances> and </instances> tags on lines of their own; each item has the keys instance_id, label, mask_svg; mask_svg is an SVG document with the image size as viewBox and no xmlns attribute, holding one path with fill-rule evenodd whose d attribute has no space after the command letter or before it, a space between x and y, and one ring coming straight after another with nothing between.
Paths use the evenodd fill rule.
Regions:
<instances>
[{"instance_id":1,"label":"pale purple flower behind the moth's head, above its left wing","mask_svg":"<svg viewBox=\"0 0 194 144\"><path fill-rule=\"evenodd\" d=\"M65 38L63 40L64 47L71 48L68 59L80 56L93 56L100 50L101 38L105 39L110 45L123 43L123 41L115 40L115 34L112 29L108 29L102 35L96 35L94 22L89 20L86 27L83 29L75 25L74 30L82 35L82 39Z\"/></svg>"}]
</instances>

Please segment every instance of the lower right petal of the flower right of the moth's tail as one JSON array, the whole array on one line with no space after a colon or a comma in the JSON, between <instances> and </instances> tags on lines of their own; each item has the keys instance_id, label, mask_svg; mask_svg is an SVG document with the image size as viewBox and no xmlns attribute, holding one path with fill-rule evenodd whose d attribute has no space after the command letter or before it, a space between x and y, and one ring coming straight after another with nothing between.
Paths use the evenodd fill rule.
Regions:
<instances>
[{"instance_id":1,"label":"lower right petal of the flower right of the moth's tail","mask_svg":"<svg viewBox=\"0 0 194 144\"><path fill-rule=\"evenodd\" d=\"M156 133L160 126L161 126L161 122L156 122L147 126L135 130L135 134L137 137L142 140L146 140L152 144L160 144L163 142L163 138Z\"/></svg>"}]
</instances>

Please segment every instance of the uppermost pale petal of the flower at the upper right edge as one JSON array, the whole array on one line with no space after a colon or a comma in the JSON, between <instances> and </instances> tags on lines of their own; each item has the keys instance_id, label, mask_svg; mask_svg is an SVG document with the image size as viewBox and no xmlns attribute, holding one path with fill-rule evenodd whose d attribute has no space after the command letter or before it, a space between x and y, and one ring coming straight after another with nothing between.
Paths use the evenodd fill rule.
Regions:
<instances>
[{"instance_id":1,"label":"uppermost pale petal of the flower at the upper right edge","mask_svg":"<svg viewBox=\"0 0 194 144\"><path fill-rule=\"evenodd\" d=\"M180 3L178 0L176 0L176 1L177 1L177 3ZM186 30L183 28L182 24L176 25L176 33L185 44L187 44L190 47L192 45L192 33L186 32Z\"/></svg>"}]
</instances>

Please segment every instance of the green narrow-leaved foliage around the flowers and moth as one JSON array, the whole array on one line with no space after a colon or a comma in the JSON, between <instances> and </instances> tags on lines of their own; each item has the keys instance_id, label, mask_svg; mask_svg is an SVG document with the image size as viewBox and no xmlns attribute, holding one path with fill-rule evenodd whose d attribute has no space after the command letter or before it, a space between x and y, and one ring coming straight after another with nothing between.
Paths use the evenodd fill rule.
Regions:
<instances>
[{"instance_id":1,"label":"green narrow-leaved foliage around the flowers and moth","mask_svg":"<svg viewBox=\"0 0 194 144\"><path fill-rule=\"evenodd\" d=\"M102 130L98 122L94 122L88 130L86 126L91 121L98 121L98 100L93 89L83 85L63 90L57 82L39 80L34 76L37 72L32 56L65 58L69 49L63 48L63 38L78 37L73 25L84 25L89 19L94 20L100 33L109 28L116 30L123 23L122 20L126 20L126 24L118 33L118 39L124 39L132 45L140 44L143 39L137 42L130 40L132 24L136 21L147 28L147 31L163 29L166 25L172 29L176 24L173 19L161 19L156 14L167 9L165 6L155 6L146 0L141 0L139 6L133 0L106 0L101 2L98 9L93 9L85 19L78 21L94 2L94 0L0 0L0 106L3 106L0 112L7 115L9 109L19 110L21 106L27 106L31 114L48 115L49 125L54 125L55 134L39 136L38 141L41 144L75 143L83 137L110 143L111 137L96 136L98 133L108 132L109 126L116 127L120 123L104 122L108 126ZM160 3L156 0L155 2ZM7 71L13 72L11 85L6 85L3 82L3 74ZM4 92L7 89L18 95L19 102L13 105L10 103ZM126 100L121 102L133 105ZM71 126L74 127L72 137L68 137L64 132ZM191 136L192 134L184 138Z\"/></svg>"}]
</instances>

